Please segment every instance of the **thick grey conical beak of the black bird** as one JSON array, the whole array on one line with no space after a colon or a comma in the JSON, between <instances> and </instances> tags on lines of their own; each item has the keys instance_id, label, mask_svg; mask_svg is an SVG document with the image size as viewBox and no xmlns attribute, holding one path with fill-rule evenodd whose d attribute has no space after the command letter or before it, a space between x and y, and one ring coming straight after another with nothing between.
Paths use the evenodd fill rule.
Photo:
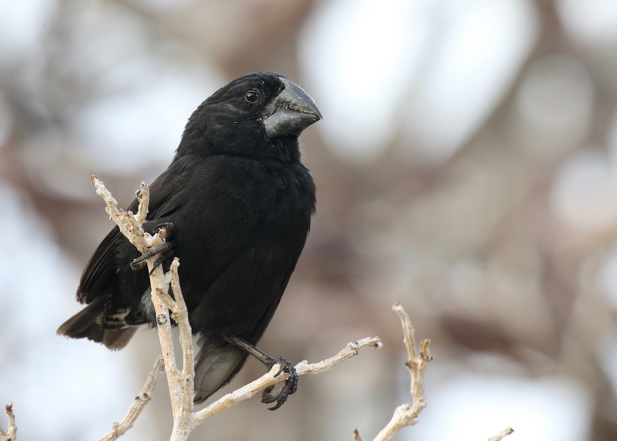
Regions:
<instances>
[{"instance_id":1,"label":"thick grey conical beak of the black bird","mask_svg":"<svg viewBox=\"0 0 617 441\"><path fill-rule=\"evenodd\" d=\"M266 138L300 135L302 130L321 119L315 101L297 84L281 78L285 88L266 109L263 119Z\"/></svg>"}]
</instances>

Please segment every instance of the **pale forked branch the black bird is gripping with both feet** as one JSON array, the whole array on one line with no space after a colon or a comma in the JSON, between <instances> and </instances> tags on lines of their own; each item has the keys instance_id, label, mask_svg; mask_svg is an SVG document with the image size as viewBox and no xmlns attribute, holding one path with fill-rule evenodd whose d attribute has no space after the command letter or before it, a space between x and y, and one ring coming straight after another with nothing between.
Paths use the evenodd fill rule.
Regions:
<instances>
[{"instance_id":1,"label":"pale forked branch the black bird is gripping with both feet","mask_svg":"<svg viewBox=\"0 0 617 441\"><path fill-rule=\"evenodd\" d=\"M118 209L117 202L105 188L101 180L97 179L96 176L93 176L92 180L94 185L96 185L96 193L102 196L107 203L106 211L110 219L118 225L123 235L125 235L141 253L145 253L147 250L164 243L164 229L155 235L150 235L144 232L142 227L146 219L147 204L149 203L149 190L146 183L141 183L141 190L136 193L139 201L139 208L137 215L134 216L131 212ZM227 410L231 406L251 398L255 393L271 385L284 382L289 376L288 374L281 374L274 377L274 374L278 372L280 368L279 366L274 366L270 372L251 384L228 393L225 397L220 398L210 406L207 406L197 413L193 413L194 349L188 311L184 303L184 298L180 289L180 280L178 278L178 266L180 263L178 258L175 258L170 266L169 273L165 274L161 266L152 271L156 259L157 256L152 256L147 259L146 262L149 271L151 271L152 303L154 304L157 317L157 329L159 331L159 340L163 352L165 372L167 373L167 384L172 400L173 431L171 440L184 441L188 439L191 431L206 419L212 418L212 416ZM172 287L173 298L169 295L170 285ZM183 368L181 371L176 367L173 351L170 310L172 311L171 315L178 325L180 332L180 344L183 350ZM351 342L346 348L332 358L312 364L307 363L307 361L302 361L297 364L296 371L299 375L317 374L318 372L326 371L336 366L336 364L357 355L358 349L362 347L373 347L378 349L381 347L381 342L378 337L364 338L357 342ZM133 424L133 421L134 419L130 421L130 424ZM126 426L126 429L128 429L128 427L130 426ZM104 437L102 440L115 440L123 433L117 430L116 425L114 425L114 428L110 432L113 434L112 437Z\"/></svg>"}]
</instances>

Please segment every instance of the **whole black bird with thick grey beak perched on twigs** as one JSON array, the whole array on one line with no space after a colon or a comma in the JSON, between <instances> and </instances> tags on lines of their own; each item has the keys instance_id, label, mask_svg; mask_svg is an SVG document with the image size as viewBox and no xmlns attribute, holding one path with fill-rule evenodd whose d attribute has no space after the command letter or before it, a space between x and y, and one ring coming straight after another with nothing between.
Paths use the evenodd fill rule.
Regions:
<instances>
[{"instance_id":1,"label":"whole black bird with thick grey beak perched on twigs","mask_svg":"<svg viewBox=\"0 0 617 441\"><path fill-rule=\"evenodd\" d=\"M144 230L170 230L167 269L180 283L194 334L195 403L233 379L249 354L290 374L262 401L279 408L296 392L284 358L255 348L296 267L315 212L315 184L300 161L298 136L321 119L313 100L283 75L249 73L206 99L189 118L172 164L150 186ZM138 201L129 206L135 212ZM143 258L115 227L81 274L85 303L58 334L120 349L142 324L155 325ZM161 258L159 258L161 261ZM131 268L131 264L132 268ZM282 371L283 369L281 369Z\"/></svg>"}]
</instances>

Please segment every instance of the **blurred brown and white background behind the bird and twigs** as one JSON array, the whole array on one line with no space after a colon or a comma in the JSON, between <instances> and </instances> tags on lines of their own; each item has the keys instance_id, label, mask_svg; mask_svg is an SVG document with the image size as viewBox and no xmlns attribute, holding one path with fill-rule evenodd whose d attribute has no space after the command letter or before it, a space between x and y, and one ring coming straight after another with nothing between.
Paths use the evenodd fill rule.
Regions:
<instances>
[{"instance_id":1,"label":"blurred brown and white background behind the bird and twigs","mask_svg":"<svg viewBox=\"0 0 617 441\"><path fill-rule=\"evenodd\" d=\"M318 212L260 347L319 361L276 412L191 439L372 439L411 400L399 301L431 338L428 408L398 440L617 439L617 2L0 0L0 404L19 441L100 437L160 348L57 337L126 206L209 94L283 73ZM230 387L263 374L249 361ZM162 380L125 440L166 440ZM210 400L209 402L212 402ZM6 428L6 418L0 416Z\"/></svg>"}]
</instances>

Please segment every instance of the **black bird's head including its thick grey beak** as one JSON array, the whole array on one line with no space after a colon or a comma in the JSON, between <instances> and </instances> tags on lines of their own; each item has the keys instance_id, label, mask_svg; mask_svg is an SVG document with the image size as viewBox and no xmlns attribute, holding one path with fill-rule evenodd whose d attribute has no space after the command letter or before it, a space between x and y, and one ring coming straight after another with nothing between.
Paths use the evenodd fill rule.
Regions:
<instances>
[{"instance_id":1,"label":"black bird's head including its thick grey beak","mask_svg":"<svg viewBox=\"0 0 617 441\"><path fill-rule=\"evenodd\" d=\"M317 105L300 86L278 73L249 73L197 107L176 157L234 154L299 160L297 137L320 119Z\"/></svg>"}]
</instances>

